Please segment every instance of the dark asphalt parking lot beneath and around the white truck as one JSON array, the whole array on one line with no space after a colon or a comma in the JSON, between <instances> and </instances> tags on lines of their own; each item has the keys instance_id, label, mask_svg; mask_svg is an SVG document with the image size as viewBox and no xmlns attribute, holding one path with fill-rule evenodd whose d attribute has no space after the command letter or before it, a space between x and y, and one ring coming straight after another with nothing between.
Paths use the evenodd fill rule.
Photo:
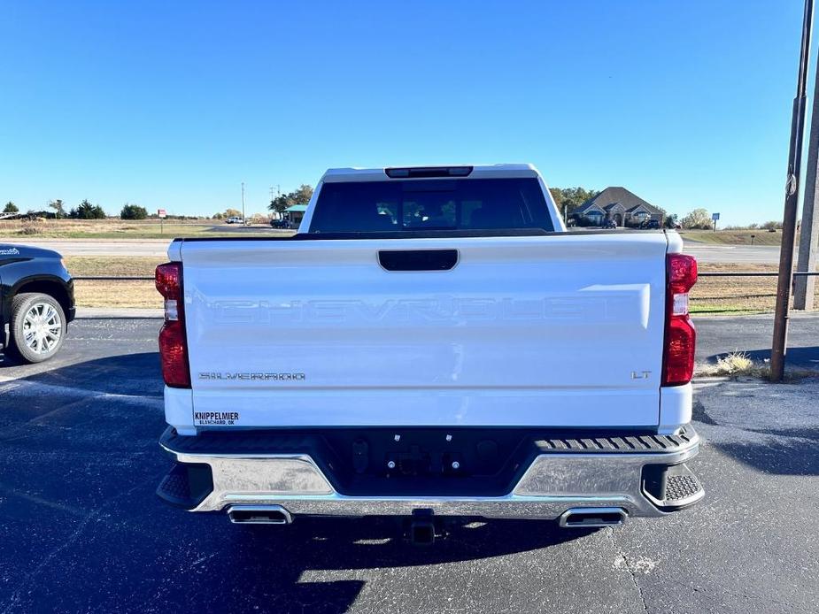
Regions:
<instances>
[{"instance_id":1,"label":"dark asphalt parking lot beneath and around the white truck","mask_svg":"<svg viewBox=\"0 0 819 614\"><path fill-rule=\"evenodd\" d=\"M808 361L816 321L792 324ZM769 330L715 342L726 322L698 321L702 359ZM819 610L816 380L697 385L692 510L597 532L464 523L421 549L388 521L232 526L160 503L158 326L81 319L51 363L0 362L0 613Z\"/></svg>"}]
</instances>

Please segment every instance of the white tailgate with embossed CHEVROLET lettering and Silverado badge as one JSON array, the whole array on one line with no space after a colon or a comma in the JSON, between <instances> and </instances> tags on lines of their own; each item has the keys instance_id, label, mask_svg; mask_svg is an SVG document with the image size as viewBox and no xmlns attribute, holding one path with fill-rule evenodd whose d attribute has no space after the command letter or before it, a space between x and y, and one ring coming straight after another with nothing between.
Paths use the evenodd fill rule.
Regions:
<instances>
[{"instance_id":1,"label":"white tailgate with embossed CHEVROLET lettering and Silverado badge","mask_svg":"<svg viewBox=\"0 0 819 614\"><path fill-rule=\"evenodd\" d=\"M454 249L449 270L379 251ZM194 423L653 426L662 233L185 241Z\"/></svg>"}]
</instances>

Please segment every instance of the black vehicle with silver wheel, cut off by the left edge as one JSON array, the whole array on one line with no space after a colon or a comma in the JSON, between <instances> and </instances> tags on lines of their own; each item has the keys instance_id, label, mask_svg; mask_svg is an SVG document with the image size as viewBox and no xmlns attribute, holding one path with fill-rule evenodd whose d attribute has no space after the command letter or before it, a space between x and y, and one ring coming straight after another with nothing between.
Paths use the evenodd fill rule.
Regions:
<instances>
[{"instance_id":1,"label":"black vehicle with silver wheel, cut off by the left edge","mask_svg":"<svg viewBox=\"0 0 819 614\"><path fill-rule=\"evenodd\" d=\"M50 249L0 243L0 343L28 363L54 356L74 317L73 281Z\"/></svg>"}]
</instances>

